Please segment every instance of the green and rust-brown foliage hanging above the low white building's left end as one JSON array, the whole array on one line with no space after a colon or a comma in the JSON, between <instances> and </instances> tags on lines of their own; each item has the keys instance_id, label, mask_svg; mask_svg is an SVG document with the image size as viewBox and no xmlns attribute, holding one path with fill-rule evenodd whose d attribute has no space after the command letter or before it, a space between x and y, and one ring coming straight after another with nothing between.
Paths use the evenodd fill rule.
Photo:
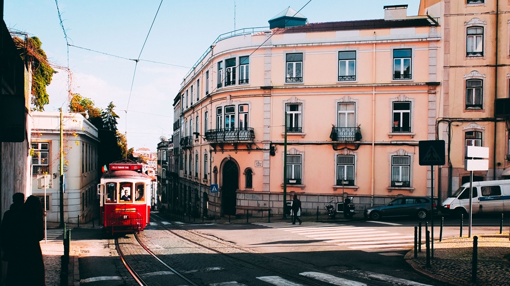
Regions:
<instances>
[{"instance_id":1,"label":"green and rust-brown foliage hanging above the low white building's left end","mask_svg":"<svg viewBox=\"0 0 510 286\"><path fill-rule=\"evenodd\" d=\"M32 110L44 111L44 106L49 103L46 87L52 83L52 77L57 71L48 62L46 53L41 48L42 42L39 38L34 36L27 38L27 41L25 41L19 37L14 37L13 40L20 50L21 58L29 62L32 67Z\"/></svg>"}]
</instances>

